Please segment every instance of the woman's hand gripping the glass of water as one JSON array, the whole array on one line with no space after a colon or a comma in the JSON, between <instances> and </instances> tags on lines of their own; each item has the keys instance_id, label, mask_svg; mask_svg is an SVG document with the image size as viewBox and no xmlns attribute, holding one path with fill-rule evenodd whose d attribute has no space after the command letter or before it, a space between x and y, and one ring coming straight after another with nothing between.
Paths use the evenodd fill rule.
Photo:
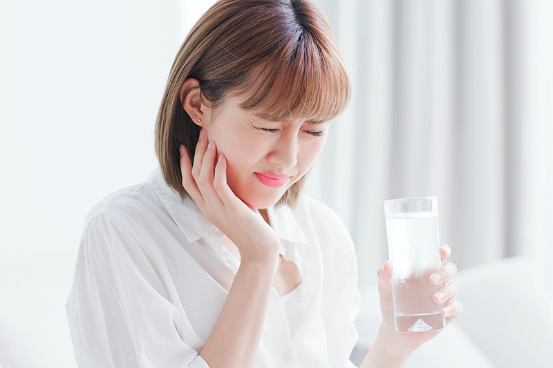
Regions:
<instances>
[{"instance_id":1,"label":"woman's hand gripping the glass of water","mask_svg":"<svg viewBox=\"0 0 553 368\"><path fill-rule=\"evenodd\" d=\"M451 249L449 246L440 246L440 258L442 262L449 257ZM456 282L451 282L451 278L455 275L457 267L455 264L448 262L444 264L438 271L431 275L430 282L432 284L444 284L444 287L433 298L437 304L444 303L442 316L446 318L446 325L455 320L462 310L460 302L456 300L459 292L459 285ZM383 334L386 340L399 342L399 346L404 348L405 354L409 351L414 351L420 345L424 344L431 338L435 337L440 331L424 331L413 333L397 333L394 325L393 314L393 298L392 298L392 273L393 266L391 262L386 261L384 266L377 272L378 278L378 293L380 297L380 311L382 312L382 325L380 326L379 334ZM435 275L440 275L440 280L435 280ZM442 298L438 299L442 293Z\"/></svg>"}]
</instances>

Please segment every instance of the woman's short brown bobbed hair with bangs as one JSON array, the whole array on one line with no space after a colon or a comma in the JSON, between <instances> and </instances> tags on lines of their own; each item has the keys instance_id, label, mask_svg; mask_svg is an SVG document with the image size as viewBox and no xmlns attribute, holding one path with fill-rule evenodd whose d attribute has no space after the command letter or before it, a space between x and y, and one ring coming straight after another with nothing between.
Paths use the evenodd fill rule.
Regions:
<instances>
[{"instance_id":1,"label":"woman's short brown bobbed hair with bangs","mask_svg":"<svg viewBox=\"0 0 553 368\"><path fill-rule=\"evenodd\" d=\"M169 74L156 120L156 155L165 182L182 198L179 146L190 157L200 126L182 108L180 89L199 81L206 106L222 106L231 93L247 98L246 110L268 119L333 119L346 108L350 80L326 17L305 0L220 0L182 43ZM293 205L305 176L278 204Z\"/></svg>"}]
</instances>

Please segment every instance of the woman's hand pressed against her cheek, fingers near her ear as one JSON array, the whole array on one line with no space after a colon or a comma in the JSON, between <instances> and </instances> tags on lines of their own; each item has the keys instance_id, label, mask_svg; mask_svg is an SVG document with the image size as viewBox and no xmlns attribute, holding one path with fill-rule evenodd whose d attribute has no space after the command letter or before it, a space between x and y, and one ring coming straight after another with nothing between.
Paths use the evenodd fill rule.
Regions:
<instances>
[{"instance_id":1,"label":"woman's hand pressed against her cheek, fingers near her ear","mask_svg":"<svg viewBox=\"0 0 553 368\"><path fill-rule=\"evenodd\" d=\"M198 205L203 215L236 244L241 261L277 262L280 242L256 209L242 202L227 184L227 161L217 158L216 144L205 130L200 131L191 162L184 146L180 146L182 186Z\"/></svg>"}]
</instances>

